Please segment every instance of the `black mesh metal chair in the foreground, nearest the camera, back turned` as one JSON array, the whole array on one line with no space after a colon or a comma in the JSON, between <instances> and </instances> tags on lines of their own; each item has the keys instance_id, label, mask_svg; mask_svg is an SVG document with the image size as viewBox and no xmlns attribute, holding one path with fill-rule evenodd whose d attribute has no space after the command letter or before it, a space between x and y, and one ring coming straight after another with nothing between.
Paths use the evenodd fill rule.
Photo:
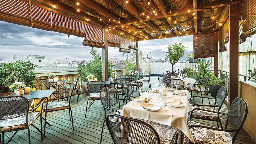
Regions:
<instances>
[{"instance_id":1,"label":"black mesh metal chair in the foreground, nearest the camera, back turned","mask_svg":"<svg viewBox=\"0 0 256 144\"><path fill-rule=\"evenodd\" d=\"M109 114L106 125L114 144L177 144L178 132L171 141L159 137L157 131L142 120Z\"/></svg>"}]
</instances>

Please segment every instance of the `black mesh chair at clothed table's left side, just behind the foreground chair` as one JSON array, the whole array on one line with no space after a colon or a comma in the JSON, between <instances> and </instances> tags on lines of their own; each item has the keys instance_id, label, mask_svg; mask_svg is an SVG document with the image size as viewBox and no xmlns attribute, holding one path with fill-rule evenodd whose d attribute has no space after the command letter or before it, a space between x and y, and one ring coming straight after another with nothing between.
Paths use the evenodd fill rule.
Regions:
<instances>
[{"instance_id":1,"label":"black mesh chair at clothed table's left side, just behind the foreground chair","mask_svg":"<svg viewBox=\"0 0 256 144\"><path fill-rule=\"evenodd\" d=\"M105 124L106 116L107 116L106 112L107 112L107 110L110 110L110 111L113 111L114 114L120 114L121 109L120 109L120 101L119 100L124 100L124 99L119 99L118 90L116 87L105 87L105 88L101 89L100 101L101 101L102 106L105 111L105 119L104 119L103 125L102 125L100 143L102 140L103 128L104 128L104 124ZM116 105L116 104L118 104L119 109L118 110L112 109L112 106Z\"/></svg>"}]
</instances>

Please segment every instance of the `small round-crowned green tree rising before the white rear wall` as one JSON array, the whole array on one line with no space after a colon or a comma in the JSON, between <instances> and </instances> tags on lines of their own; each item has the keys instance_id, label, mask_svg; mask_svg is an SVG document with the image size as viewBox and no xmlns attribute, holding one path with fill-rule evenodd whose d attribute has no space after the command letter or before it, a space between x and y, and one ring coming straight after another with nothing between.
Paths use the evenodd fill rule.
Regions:
<instances>
[{"instance_id":1,"label":"small round-crowned green tree rising before the white rear wall","mask_svg":"<svg viewBox=\"0 0 256 144\"><path fill-rule=\"evenodd\" d=\"M187 47L181 45L181 43L168 45L168 50L166 51L165 59L167 59L172 64L172 73L173 73L173 65L176 64L181 57L183 57L185 50Z\"/></svg>"}]
</instances>

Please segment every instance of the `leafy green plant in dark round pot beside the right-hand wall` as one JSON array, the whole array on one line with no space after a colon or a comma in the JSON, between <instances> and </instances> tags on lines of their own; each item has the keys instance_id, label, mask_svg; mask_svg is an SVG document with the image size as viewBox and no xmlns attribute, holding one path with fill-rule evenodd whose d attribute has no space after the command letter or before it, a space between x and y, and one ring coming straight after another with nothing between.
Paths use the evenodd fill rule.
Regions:
<instances>
[{"instance_id":1,"label":"leafy green plant in dark round pot beside the right-hand wall","mask_svg":"<svg viewBox=\"0 0 256 144\"><path fill-rule=\"evenodd\" d=\"M208 84L212 97L216 98L219 88L221 88L224 85L224 83L224 78L219 78L215 75L210 76Z\"/></svg>"}]
</instances>

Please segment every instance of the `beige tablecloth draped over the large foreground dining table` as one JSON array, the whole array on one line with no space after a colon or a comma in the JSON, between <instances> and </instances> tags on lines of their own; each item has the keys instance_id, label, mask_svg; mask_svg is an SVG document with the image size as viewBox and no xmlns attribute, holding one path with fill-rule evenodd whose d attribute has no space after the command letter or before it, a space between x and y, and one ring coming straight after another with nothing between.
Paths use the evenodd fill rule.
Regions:
<instances>
[{"instance_id":1,"label":"beige tablecloth draped over the large foreground dining table","mask_svg":"<svg viewBox=\"0 0 256 144\"><path fill-rule=\"evenodd\" d=\"M144 92L143 95L147 95L147 92ZM150 92L150 95L153 95L153 93ZM123 106L121 115L153 121L167 126L174 126L194 142L187 125L188 112L193 109L191 104L188 102L189 96L189 92L187 95L172 95L172 92L169 92L169 97L166 98L166 101L172 101L175 98L180 98L181 102L186 105L184 107L167 106L167 109L161 109L159 111L147 111L140 106L141 102L133 100ZM153 99L152 103L156 103L156 99Z\"/></svg>"}]
</instances>

